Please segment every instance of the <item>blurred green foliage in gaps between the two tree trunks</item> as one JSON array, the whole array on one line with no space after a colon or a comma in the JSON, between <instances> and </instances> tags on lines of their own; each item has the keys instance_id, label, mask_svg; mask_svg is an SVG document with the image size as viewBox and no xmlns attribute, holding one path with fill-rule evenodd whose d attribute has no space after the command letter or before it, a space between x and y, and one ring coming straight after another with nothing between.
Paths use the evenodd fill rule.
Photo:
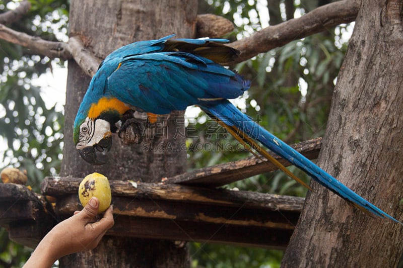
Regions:
<instances>
[{"instance_id":1,"label":"blurred green foliage in gaps between the two tree trunks","mask_svg":"<svg viewBox=\"0 0 403 268\"><path fill-rule=\"evenodd\" d=\"M217 15L224 13L227 19L235 21L236 29L228 36L229 39L249 36L267 24L267 21L262 21L267 20L264 17L264 10L258 7L262 2L206 0L206 3L209 5L203 6L203 12L214 11ZM270 5L268 12L275 18L270 20L270 23L273 21L277 24L284 21L286 11L274 6L273 3L276 2L268 3ZM299 5L294 5L295 14L306 13L303 7L307 6L310 9L315 8L312 1L301 1ZM349 25L338 26L334 31L290 42L281 48L259 54L234 66L252 81L248 93L236 101L238 108L288 143L323 136L330 109L333 81L338 75L347 48L347 40L343 34L346 34L349 27ZM193 123L189 123L190 132L187 134L197 136L195 139L189 139L189 144L237 143L229 134L228 137L221 139L212 138L211 133L206 135L207 130L211 129L209 124L212 123L209 121L204 123L206 120L203 117L203 114L199 114L194 120L189 119ZM223 133L220 133L223 136ZM233 161L250 155L242 149L214 152L196 150L188 151L188 154L190 169ZM294 166L289 169L305 182L309 182L310 178L303 171ZM303 186L281 171L256 175L226 186L226 188L234 187L240 190L300 197L304 197L307 192ZM277 267L280 266L282 251L193 243L191 255L193 267Z\"/></svg>"}]
</instances>

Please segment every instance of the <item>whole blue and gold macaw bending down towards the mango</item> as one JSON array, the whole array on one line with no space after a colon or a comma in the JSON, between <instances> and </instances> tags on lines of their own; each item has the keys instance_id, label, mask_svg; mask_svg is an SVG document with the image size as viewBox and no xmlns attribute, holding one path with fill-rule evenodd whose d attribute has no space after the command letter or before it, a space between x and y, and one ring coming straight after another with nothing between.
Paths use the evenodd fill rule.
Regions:
<instances>
[{"instance_id":1,"label":"whole blue and gold macaw bending down towards the mango","mask_svg":"<svg viewBox=\"0 0 403 268\"><path fill-rule=\"evenodd\" d=\"M146 112L153 121L156 115L197 105L240 143L250 145L308 189L309 186L261 149L256 141L367 214L399 222L260 127L227 100L241 96L250 85L241 75L220 65L239 54L224 44L228 40L170 40L172 36L123 46L101 62L74 123L76 148L87 162L104 163L97 159L96 151L111 148L116 123L123 121L123 115L130 111Z\"/></svg>"}]
</instances>

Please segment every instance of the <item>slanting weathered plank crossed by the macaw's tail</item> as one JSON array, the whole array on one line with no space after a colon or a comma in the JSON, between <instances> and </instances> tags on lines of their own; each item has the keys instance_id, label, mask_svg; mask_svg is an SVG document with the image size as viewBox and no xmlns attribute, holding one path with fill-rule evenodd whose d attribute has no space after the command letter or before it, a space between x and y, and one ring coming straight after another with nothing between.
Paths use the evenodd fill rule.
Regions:
<instances>
[{"instance_id":1,"label":"slanting weathered plank crossed by the macaw's tail","mask_svg":"<svg viewBox=\"0 0 403 268\"><path fill-rule=\"evenodd\" d=\"M322 138L311 139L291 145L298 152L302 153L308 159L316 159ZM280 156L271 153L284 166L290 163ZM277 170L277 166L267 160L260 160L255 156L249 156L244 159L228 162L224 164L213 165L205 168L195 169L193 171L167 178L166 184L181 184L203 187L219 187L233 182L243 180L244 178L257 174Z\"/></svg>"}]
</instances>

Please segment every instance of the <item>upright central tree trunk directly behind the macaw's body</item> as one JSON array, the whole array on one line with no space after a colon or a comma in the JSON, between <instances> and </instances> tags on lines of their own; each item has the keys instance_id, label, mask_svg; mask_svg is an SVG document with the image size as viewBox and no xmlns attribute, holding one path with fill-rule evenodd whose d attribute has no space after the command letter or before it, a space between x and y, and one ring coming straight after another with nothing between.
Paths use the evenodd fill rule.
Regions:
<instances>
[{"instance_id":1,"label":"upright central tree trunk directly behind the macaw's body","mask_svg":"<svg viewBox=\"0 0 403 268\"><path fill-rule=\"evenodd\" d=\"M195 0L73 0L70 36L79 35L86 48L101 59L133 41L156 39L173 33L178 37L192 38L196 13ZM176 152L162 146L146 150L151 146L142 144L127 146L120 142L117 135L113 137L114 145L107 164L92 166L81 159L73 143L73 122L89 82L90 77L74 61L69 61L61 176L83 177L97 171L110 180L135 177L143 182L155 182L184 171L185 151ZM183 113L173 113L164 119L164 135L149 135L144 142L184 142L181 137L173 137L176 128L184 128L184 125L177 126L179 120L174 120L175 116L183 117ZM184 132L183 129L178 131ZM115 217L117 221L119 217ZM187 246L176 247L173 241L108 236L94 250L60 259L60 267L182 267L188 266L188 263Z\"/></svg>"}]
</instances>

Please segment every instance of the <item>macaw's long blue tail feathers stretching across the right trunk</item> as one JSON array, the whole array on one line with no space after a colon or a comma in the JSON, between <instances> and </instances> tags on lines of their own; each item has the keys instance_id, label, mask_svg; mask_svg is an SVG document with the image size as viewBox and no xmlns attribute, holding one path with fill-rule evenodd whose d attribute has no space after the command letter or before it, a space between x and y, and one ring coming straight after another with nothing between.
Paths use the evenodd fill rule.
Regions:
<instances>
[{"instance_id":1,"label":"macaw's long blue tail feathers stretching across the right trunk","mask_svg":"<svg viewBox=\"0 0 403 268\"><path fill-rule=\"evenodd\" d=\"M366 201L365 199L354 193L352 190L336 180L326 171L318 167L308 158L294 150L291 146L289 146L264 128L260 127L247 115L240 112L229 101L220 100L217 102L200 103L198 104L198 106L210 116L215 117L216 120L221 121L221 124L231 126L235 131L239 130L235 134L239 136L241 136L242 134L247 135L248 137L259 141L266 148L270 149L276 154L284 157L289 162L309 174L316 182L329 189L333 193L339 195L363 212L382 218L389 218L403 225L392 216L383 212L370 202Z\"/></svg>"}]
</instances>

